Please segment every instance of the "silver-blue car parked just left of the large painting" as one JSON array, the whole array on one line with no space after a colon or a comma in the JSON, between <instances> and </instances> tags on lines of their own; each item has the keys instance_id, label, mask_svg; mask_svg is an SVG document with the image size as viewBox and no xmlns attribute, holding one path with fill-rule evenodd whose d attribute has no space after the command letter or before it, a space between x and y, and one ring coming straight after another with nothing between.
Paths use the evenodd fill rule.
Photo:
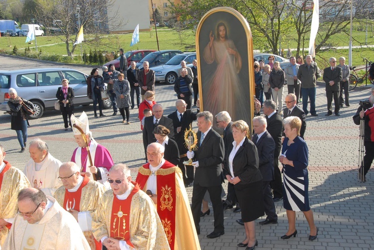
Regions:
<instances>
[{"instance_id":1,"label":"silver-blue car parked just left of the large painting","mask_svg":"<svg viewBox=\"0 0 374 250\"><path fill-rule=\"evenodd\" d=\"M192 61L196 59L196 52L186 52L175 55L166 64L152 67L155 71L156 82L174 84L178 78L178 69L181 68L181 61L186 61L187 67L192 67Z\"/></svg>"}]
</instances>

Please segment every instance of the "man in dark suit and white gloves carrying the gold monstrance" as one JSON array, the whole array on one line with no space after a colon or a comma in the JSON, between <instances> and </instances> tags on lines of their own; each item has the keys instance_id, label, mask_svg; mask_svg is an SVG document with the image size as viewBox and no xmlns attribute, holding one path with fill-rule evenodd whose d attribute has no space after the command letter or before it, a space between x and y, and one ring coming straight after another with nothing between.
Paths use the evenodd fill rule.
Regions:
<instances>
[{"instance_id":1,"label":"man in dark suit and white gloves carrying the gold monstrance","mask_svg":"<svg viewBox=\"0 0 374 250\"><path fill-rule=\"evenodd\" d=\"M224 145L222 137L211 127L213 115L204 111L197 114L197 150L187 152L189 159L194 159L196 167L192 190L192 216L196 232L200 234L200 209L206 190L209 193L214 210L214 231L207 235L213 239L224 234L223 208L221 201L222 167Z\"/></svg>"}]
</instances>

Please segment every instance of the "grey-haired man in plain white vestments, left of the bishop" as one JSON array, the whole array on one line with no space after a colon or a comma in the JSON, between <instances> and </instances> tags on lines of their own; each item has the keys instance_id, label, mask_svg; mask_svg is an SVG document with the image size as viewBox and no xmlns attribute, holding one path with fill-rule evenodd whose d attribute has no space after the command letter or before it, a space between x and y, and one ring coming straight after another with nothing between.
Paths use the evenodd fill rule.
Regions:
<instances>
[{"instance_id":1,"label":"grey-haired man in plain white vestments, left of the bishop","mask_svg":"<svg viewBox=\"0 0 374 250\"><path fill-rule=\"evenodd\" d=\"M41 189L45 195L53 196L56 189L62 185L58 179L61 161L48 152L47 143L39 138L30 142L28 151L31 159L26 163L23 173L32 187Z\"/></svg>"}]
</instances>

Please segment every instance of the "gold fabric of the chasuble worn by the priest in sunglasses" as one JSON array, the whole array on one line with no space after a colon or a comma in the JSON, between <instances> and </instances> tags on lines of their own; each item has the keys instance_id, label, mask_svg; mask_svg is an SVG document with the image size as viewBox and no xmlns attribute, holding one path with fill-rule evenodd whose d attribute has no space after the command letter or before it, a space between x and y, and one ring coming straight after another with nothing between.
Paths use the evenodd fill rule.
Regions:
<instances>
[{"instance_id":1,"label":"gold fabric of the chasuble worn by the priest in sunglasses","mask_svg":"<svg viewBox=\"0 0 374 250\"><path fill-rule=\"evenodd\" d=\"M133 184L129 184L131 190ZM113 209L114 195L112 190L104 193L99 206L92 217L92 233L97 241L104 236L110 237L113 216L118 216L118 211ZM143 191L136 192L131 200L131 206L121 208L121 214L130 215L130 242L134 246L130 249L139 250L170 250L161 220L157 215L155 205L151 198ZM117 214L117 215L114 215Z\"/></svg>"}]
</instances>

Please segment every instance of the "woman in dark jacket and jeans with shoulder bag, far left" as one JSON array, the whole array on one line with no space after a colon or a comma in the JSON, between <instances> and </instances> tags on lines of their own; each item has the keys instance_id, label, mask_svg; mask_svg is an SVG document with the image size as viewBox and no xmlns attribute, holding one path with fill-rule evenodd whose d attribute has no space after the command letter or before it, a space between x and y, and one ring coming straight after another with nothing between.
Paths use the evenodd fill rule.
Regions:
<instances>
[{"instance_id":1,"label":"woman in dark jacket and jeans with shoulder bag, far left","mask_svg":"<svg viewBox=\"0 0 374 250\"><path fill-rule=\"evenodd\" d=\"M29 124L27 115L22 109L22 103L29 107L34 107L34 105L31 102L19 97L13 88L9 89L9 97L8 106L11 112L10 128L15 130L17 133L17 139L19 145L21 146L20 152L23 153L24 148L26 147L27 126Z\"/></svg>"}]
</instances>

